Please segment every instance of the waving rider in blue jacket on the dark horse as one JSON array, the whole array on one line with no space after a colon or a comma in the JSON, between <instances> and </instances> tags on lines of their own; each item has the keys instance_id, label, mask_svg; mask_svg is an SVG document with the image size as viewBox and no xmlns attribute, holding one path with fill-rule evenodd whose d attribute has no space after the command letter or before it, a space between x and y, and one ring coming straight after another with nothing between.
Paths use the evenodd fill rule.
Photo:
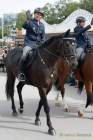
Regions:
<instances>
[{"instance_id":1,"label":"waving rider in blue jacket on the dark horse","mask_svg":"<svg viewBox=\"0 0 93 140\"><path fill-rule=\"evenodd\" d=\"M32 18L30 11L27 11L26 15L27 21L23 25L23 28L26 29L26 35L24 39L23 55L20 61L20 73L18 74L19 81L25 81L23 63L29 51L30 54L31 52L33 53L33 49L38 47L45 40L45 27L43 23L40 22L41 18L44 17L41 8L36 8L34 10L34 18Z\"/></svg>"}]
</instances>

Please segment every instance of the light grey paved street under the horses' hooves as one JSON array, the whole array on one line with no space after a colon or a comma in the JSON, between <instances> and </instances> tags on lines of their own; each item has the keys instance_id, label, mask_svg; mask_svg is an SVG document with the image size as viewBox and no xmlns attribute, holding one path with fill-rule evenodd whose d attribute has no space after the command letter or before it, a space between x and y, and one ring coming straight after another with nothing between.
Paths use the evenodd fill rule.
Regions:
<instances>
[{"instance_id":1,"label":"light grey paved street under the horses' hooves","mask_svg":"<svg viewBox=\"0 0 93 140\"><path fill-rule=\"evenodd\" d=\"M44 110L41 111L41 126L35 126L35 111L39 102L38 90L32 86L25 86L22 91L24 99L24 113L12 116L11 102L5 95L6 74L0 74L0 140L93 140L93 113L84 113L78 117L78 109L86 103L85 91L77 94L77 89L66 85L66 102L70 112L64 112L61 96L60 107L55 106L57 91L53 87L48 95L51 110L51 121L56 130L55 136L48 135ZM16 84L18 81L16 81ZM15 103L19 108L18 95L15 86Z\"/></svg>"}]
</instances>

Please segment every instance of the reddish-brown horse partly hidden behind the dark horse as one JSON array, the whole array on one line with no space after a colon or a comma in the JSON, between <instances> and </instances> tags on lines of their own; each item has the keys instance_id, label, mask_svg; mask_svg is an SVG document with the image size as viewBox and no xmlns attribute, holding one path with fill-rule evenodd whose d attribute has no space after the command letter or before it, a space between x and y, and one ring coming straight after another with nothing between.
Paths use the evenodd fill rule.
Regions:
<instances>
[{"instance_id":1,"label":"reddish-brown horse partly hidden behind the dark horse","mask_svg":"<svg viewBox=\"0 0 93 140\"><path fill-rule=\"evenodd\" d=\"M69 65L67 65L63 59L60 59L58 61L57 66L58 66L57 69L58 69L60 90L63 99L65 94L64 84L65 84L65 79L69 74ZM87 94L87 102L86 102L86 108L87 108L89 105L93 104L93 48L92 47L86 51L84 62L77 68L75 76L76 79L78 80L78 88L80 93L85 85L86 94ZM58 100L58 96L57 96L57 100ZM66 110L68 110L68 108L66 108ZM83 113L79 111L78 115L82 116Z\"/></svg>"}]
</instances>

